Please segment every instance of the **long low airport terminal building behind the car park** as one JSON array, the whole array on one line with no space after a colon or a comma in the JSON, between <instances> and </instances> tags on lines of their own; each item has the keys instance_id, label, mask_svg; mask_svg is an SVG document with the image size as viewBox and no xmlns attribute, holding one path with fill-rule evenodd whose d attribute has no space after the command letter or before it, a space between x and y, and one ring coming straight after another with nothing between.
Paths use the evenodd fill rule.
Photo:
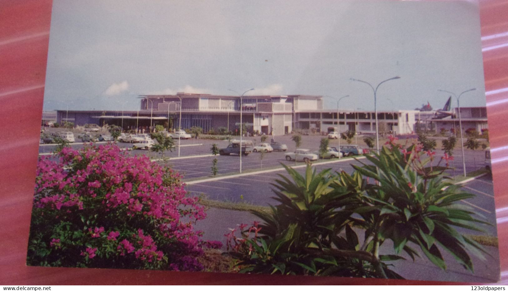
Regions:
<instances>
[{"instance_id":1,"label":"long low airport terminal building behind the car park","mask_svg":"<svg viewBox=\"0 0 508 291\"><path fill-rule=\"evenodd\" d=\"M192 126L210 129L235 131L240 125L240 106L242 123L250 130L273 135L291 133L294 129L308 129L316 132L341 132L353 130L359 133L375 132L375 113L365 110L346 110L344 108L323 109L323 96L317 95L258 95L244 96L240 105L239 96L177 93L175 95L142 95L137 111L72 111L58 110L56 121L84 124L115 124L124 129L150 130L157 124L173 125L180 122L182 129ZM486 127L486 108L480 108L478 118L474 114L471 122L477 127ZM482 109L483 108L483 111ZM465 108L461 108L461 113ZM466 112L465 110L464 112ZM477 110L470 109L472 113ZM485 115L483 112L485 111ZM378 111L380 130L396 134L415 132L416 124L422 122L421 114L416 110ZM467 114L465 114L467 115ZM485 117L484 117L485 116ZM455 116L440 122L439 126L453 126ZM464 118L464 116L462 116ZM474 120L473 120L474 119ZM426 118L426 122L429 119ZM464 121L463 121L464 122ZM484 123L483 123L484 122ZM478 125L478 124L482 125ZM464 127L463 124L463 128Z\"/></svg>"}]
</instances>

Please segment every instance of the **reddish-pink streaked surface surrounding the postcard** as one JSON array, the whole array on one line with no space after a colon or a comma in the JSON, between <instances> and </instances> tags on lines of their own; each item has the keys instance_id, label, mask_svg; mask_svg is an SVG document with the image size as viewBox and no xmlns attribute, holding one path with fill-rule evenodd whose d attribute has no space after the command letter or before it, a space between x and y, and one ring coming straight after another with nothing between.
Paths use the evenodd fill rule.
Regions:
<instances>
[{"instance_id":1,"label":"reddish-pink streaked surface surrounding the postcard","mask_svg":"<svg viewBox=\"0 0 508 291\"><path fill-rule=\"evenodd\" d=\"M0 1L0 284L443 284L25 266L48 53L51 0ZM480 0L501 284L508 284L508 0ZM494 46L499 48L492 49ZM506 88L503 92L502 89ZM19 100L22 99L22 100ZM504 149L505 148L505 149ZM504 157L506 157L504 159ZM505 210L504 210L505 209ZM446 283L444 283L446 284ZM469 284L468 284L469 285Z\"/></svg>"}]
</instances>

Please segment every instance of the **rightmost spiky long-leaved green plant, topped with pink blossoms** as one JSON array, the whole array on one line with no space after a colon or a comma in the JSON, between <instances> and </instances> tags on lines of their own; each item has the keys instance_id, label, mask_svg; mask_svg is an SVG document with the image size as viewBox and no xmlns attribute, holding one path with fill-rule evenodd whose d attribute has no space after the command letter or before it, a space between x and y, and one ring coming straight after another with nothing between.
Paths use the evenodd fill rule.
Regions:
<instances>
[{"instance_id":1,"label":"rightmost spiky long-leaved green plant, topped with pink blossoms","mask_svg":"<svg viewBox=\"0 0 508 291\"><path fill-rule=\"evenodd\" d=\"M379 245L390 239L396 254L403 250L414 259L417 252L409 244L413 243L445 270L441 254L445 250L473 272L468 251L483 258L484 249L456 228L482 231L479 226L487 223L474 219L470 207L457 203L474 195L444 180L446 168L427 167L433 156L427 153L430 157L422 160L423 152L412 145L406 150L384 147L379 155L367 156L373 165L354 167L376 183L366 187L362 203L347 208L362 216L353 220L366 229L363 248L375 257L379 256Z\"/></svg>"}]
</instances>

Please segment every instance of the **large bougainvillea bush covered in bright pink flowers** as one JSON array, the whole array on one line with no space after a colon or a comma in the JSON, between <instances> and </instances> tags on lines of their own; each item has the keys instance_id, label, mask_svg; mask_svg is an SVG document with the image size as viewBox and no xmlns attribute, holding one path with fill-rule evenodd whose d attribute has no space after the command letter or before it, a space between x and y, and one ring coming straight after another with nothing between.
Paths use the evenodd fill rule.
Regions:
<instances>
[{"instance_id":1,"label":"large bougainvillea bush covered in bright pink flowers","mask_svg":"<svg viewBox=\"0 0 508 291\"><path fill-rule=\"evenodd\" d=\"M57 158L55 160L55 158ZM199 271L204 207L181 177L114 144L63 148L37 167L27 263Z\"/></svg>"}]
</instances>

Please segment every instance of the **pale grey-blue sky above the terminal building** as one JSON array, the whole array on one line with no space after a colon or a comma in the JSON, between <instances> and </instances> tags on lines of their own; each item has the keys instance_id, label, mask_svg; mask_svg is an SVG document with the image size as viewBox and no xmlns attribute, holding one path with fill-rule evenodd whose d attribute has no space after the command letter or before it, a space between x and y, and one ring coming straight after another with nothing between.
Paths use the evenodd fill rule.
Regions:
<instances>
[{"instance_id":1,"label":"pale grey-blue sky above the terminal building","mask_svg":"<svg viewBox=\"0 0 508 291\"><path fill-rule=\"evenodd\" d=\"M485 106L470 2L54 0L44 110L137 110L139 95L323 95L325 108ZM456 101L453 103L456 104Z\"/></svg>"}]
</instances>

